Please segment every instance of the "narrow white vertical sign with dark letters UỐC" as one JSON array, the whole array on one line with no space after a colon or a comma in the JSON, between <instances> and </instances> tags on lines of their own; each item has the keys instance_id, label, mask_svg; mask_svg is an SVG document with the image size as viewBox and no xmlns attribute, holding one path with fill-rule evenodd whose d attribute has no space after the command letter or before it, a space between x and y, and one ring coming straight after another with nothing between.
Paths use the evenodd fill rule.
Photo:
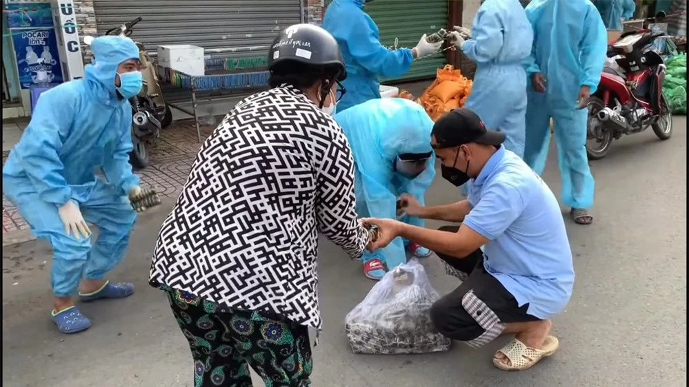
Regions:
<instances>
[{"instance_id":1,"label":"narrow white vertical sign with dark letters U\u1ed0C","mask_svg":"<svg viewBox=\"0 0 689 387\"><path fill-rule=\"evenodd\" d=\"M63 65L67 70L68 80L79 79L83 77L83 59L81 56L81 45L79 44L79 33L77 32L77 19L74 15L74 3L72 0L57 0L56 4L57 16L60 22L59 32L62 35L61 41L64 46L61 47L63 55Z\"/></svg>"}]
</instances>

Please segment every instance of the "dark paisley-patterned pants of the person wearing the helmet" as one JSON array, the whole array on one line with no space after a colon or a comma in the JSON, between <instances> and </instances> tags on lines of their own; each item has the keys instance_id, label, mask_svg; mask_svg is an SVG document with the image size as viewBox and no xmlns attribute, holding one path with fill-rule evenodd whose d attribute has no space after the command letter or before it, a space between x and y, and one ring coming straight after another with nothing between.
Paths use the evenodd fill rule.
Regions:
<instances>
[{"instance_id":1,"label":"dark paisley-patterned pants of the person wearing the helmet","mask_svg":"<svg viewBox=\"0 0 689 387\"><path fill-rule=\"evenodd\" d=\"M249 367L266 387L310 386L308 328L279 317L237 311L164 289L194 359L194 386L252 387Z\"/></svg>"}]
</instances>

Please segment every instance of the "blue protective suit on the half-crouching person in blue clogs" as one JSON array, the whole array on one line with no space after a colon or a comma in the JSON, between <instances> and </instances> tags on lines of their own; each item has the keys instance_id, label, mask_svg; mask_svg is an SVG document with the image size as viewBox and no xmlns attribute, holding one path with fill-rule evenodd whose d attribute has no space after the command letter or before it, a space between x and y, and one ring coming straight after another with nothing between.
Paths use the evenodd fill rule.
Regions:
<instances>
[{"instance_id":1,"label":"blue protective suit on the half-crouching person in blue clogs","mask_svg":"<svg viewBox=\"0 0 689 387\"><path fill-rule=\"evenodd\" d=\"M136 220L127 198L139 185L129 164L132 109L118 98L114 79L120 63L139 59L139 49L118 36L94 39L91 47L96 59L84 78L41 94L3 167L3 193L33 233L52 244L50 279L58 297L76 291L82 276L103 278L123 258ZM70 199L99 228L94 247L67 236L57 210Z\"/></svg>"}]
</instances>

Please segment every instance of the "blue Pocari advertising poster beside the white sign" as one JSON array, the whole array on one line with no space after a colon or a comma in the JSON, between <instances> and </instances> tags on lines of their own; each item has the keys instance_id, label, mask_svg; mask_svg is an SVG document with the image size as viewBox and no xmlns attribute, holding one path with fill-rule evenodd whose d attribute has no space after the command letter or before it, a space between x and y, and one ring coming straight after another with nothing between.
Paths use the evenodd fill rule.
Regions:
<instances>
[{"instance_id":1,"label":"blue Pocari advertising poster beside the white sign","mask_svg":"<svg viewBox=\"0 0 689 387\"><path fill-rule=\"evenodd\" d=\"M48 79L42 82L63 82L50 3L10 3L6 13L21 88L28 89L30 85L41 82L38 79L40 70L48 75Z\"/></svg>"}]
</instances>

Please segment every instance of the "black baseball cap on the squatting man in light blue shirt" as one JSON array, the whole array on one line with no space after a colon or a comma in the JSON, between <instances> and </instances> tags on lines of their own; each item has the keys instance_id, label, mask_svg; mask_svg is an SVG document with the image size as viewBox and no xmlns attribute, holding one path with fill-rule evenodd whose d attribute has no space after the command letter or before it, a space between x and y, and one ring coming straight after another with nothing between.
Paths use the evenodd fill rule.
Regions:
<instances>
[{"instance_id":1,"label":"black baseball cap on the squatting man in light blue shirt","mask_svg":"<svg viewBox=\"0 0 689 387\"><path fill-rule=\"evenodd\" d=\"M477 143L499 146L505 142L505 134L486 129L481 118L466 107L459 107L442 116L430 132L435 136L434 148L451 148Z\"/></svg>"}]
</instances>

